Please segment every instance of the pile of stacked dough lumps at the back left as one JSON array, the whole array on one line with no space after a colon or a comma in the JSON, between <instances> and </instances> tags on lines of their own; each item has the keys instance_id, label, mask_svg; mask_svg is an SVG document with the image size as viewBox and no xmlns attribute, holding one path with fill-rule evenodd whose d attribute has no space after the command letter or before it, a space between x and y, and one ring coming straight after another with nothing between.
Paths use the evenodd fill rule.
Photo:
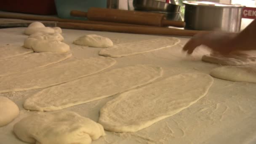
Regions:
<instances>
[{"instance_id":1,"label":"pile of stacked dough lumps at the back left","mask_svg":"<svg viewBox=\"0 0 256 144\"><path fill-rule=\"evenodd\" d=\"M33 22L25 29L25 34L29 35L24 40L24 47L39 52L67 53L70 51L69 45L63 43L64 37L61 35L60 27L45 27L40 22Z\"/></svg>"}]
</instances>

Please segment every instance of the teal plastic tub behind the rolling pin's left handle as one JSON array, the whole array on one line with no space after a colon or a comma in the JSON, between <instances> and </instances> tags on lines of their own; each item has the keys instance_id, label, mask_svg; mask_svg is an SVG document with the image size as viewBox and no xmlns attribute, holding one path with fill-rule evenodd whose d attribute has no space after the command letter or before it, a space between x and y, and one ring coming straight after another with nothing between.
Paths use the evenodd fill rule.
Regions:
<instances>
[{"instance_id":1,"label":"teal plastic tub behind the rolling pin's left handle","mask_svg":"<svg viewBox=\"0 0 256 144\"><path fill-rule=\"evenodd\" d=\"M86 18L70 16L70 11L84 11L87 12L91 7L107 8L107 0L54 0L58 17L61 19L80 19Z\"/></svg>"}]
</instances>

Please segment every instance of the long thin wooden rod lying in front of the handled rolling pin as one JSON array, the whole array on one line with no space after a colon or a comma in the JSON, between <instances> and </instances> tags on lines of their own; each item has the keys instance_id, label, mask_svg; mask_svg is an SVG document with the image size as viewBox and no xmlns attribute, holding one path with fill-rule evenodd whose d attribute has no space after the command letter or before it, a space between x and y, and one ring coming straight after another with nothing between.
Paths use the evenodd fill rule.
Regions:
<instances>
[{"instance_id":1,"label":"long thin wooden rod lying in front of the handled rolling pin","mask_svg":"<svg viewBox=\"0 0 256 144\"><path fill-rule=\"evenodd\" d=\"M122 32L133 34L147 34L147 35L173 35L173 36L193 36L199 32L196 30L172 29L165 27L132 27L132 26L112 26L102 24L79 24L79 23L57 23L58 27L64 29L83 29L93 31L107 31L107 32Z\"/></svg>"}]
</instances>

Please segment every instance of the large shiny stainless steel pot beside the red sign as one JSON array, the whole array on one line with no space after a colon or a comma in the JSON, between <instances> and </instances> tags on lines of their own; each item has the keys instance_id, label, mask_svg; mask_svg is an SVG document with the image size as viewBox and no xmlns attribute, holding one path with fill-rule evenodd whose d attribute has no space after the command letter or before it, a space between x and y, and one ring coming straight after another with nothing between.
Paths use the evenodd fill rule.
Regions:
<instances>
[{"instance_id":1,"label":"large shiny stainless steel pot beside the red sign","mask_svg":"<svg viewBox=\"0 0 256 144\"><path fill-rule=\"evenodd\" d=\"M243 7L211 2L184 1L185 29L239 32Z\"/></svg>"}]
</instances>

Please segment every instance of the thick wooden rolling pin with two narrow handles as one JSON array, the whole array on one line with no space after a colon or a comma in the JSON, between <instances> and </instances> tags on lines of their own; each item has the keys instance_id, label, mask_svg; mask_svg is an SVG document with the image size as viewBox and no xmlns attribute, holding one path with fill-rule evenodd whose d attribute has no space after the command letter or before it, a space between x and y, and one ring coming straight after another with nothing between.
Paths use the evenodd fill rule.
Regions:
<instances>
[{"instance_id":1,"label":"thick wooden rolling pin with two narrow handles","mask_svg":"<svg viewBox=\"0 0 256 144\"><path fill-rule=\"evenodd\" d=\"M89 8L88 12L71 11L72 16L87 17L91 21L108 21L124 24L140 24L155 27L185 27L184 21L166 20L165 14L126 11L110 8Z\"/></svg>"}]
</instances>

